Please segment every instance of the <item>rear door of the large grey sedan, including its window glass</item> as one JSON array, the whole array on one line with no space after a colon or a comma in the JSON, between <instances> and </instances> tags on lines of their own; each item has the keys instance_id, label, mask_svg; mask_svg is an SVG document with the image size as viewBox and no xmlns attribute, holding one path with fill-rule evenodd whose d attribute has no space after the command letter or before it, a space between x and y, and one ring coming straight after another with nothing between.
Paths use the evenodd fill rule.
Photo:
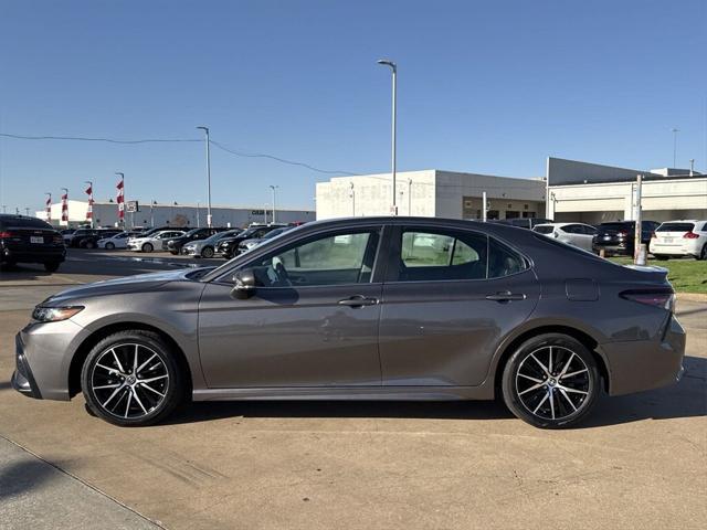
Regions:
<instances>
[{"instance_id":1,"label":"rear door of the large grey sedan, including its window glass","mask_svg":"<svg viewBox=\"0 0 707 530\"><path fill-rule=\"evenodd\" d=\"M471 230L398 226L380 321L383 385L481 384L503 338L528 318L529 262Z\"/></svg>"}]
</instances>

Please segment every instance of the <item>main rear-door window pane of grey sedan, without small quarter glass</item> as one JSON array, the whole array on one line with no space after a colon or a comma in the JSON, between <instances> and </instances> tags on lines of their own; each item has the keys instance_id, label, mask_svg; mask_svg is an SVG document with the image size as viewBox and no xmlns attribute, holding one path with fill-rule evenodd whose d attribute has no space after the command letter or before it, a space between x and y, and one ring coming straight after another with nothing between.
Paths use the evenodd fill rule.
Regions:
<instances>
[{"instance_id":1,"label":"main rear-door window pane of grey sedan, without small quarter glass","mask_svg":"<svg viewBox=\"0 0 707 530\"><path fill-rule=\"evenodd\" d=\"M464 232L402 232L398 280L484 279L487 237Z\"/></svg>"}]
</instances>

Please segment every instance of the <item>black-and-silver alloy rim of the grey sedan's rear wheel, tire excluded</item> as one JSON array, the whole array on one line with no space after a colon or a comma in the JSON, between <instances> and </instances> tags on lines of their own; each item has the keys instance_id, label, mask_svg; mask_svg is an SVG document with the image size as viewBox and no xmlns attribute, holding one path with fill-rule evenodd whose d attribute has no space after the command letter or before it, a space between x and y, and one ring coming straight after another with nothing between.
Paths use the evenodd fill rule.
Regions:
<instances>
[{"instance_id":1,"label":"black-and-silver alloy rim of the grey sedan's rear wheel, tire excluded","mask_svg":"<svg viewBox=\"0 0 707 530\"><path fill-rule=\"evenodd\" d=\"M593 392L587 363L561 346L544 346L518 364L518 400L541 420L567 420L582 412Z\"/></svg>"}]
</instances>

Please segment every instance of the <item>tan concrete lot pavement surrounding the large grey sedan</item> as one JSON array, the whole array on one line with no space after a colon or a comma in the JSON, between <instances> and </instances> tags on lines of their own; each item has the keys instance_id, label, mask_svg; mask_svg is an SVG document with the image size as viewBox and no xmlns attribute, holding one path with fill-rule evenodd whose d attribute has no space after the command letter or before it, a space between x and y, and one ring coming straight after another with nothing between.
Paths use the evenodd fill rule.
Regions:
<instances>
[{"instance_id":1,"label":"tan concrete lot pavement surrounding the large grey sedan","mask_svg":"<svg viewBox=\"0 0 707 530\"><path fill-rule=\"evenodd\" d=\"M63 519L67 502L105 512L102 528L120 528L120 517L137 518L129 528L149 524L139 515L170 529L704 528L707 301L678 301L688 330L683 381L603 398L571 431L532 428L488 402L198 403L165 425L119 428L87 415L81 396L35 401L9 384L12 338L44 297L209 264L116 255L74 251L54 275L0 273L0 435L12 441L0 438L0 528L81 528ZM18 446L71 484L42 479L43 470L23 478L32 476L23 466L44 463ZM70 496L74 487L86 490ZM107 505L76 500L94 494Z\"/></svg>"}]
</instances>

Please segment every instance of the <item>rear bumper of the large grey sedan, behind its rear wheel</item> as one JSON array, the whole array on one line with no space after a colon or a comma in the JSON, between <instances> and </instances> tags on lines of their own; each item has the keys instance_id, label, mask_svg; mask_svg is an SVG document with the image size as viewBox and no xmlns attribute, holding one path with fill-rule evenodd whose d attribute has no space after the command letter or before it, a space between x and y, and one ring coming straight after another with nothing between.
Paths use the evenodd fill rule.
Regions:
<instances>
[{"instance_id":1,"label":"rear bumper of the large grey sedan, behind its rear wheel","mask_svg":"<svg viewBox=\"0 0 707 530\"><path fill-rule=\"evenodd\" d=\"M600 346L609 370L609 394L622 395L673 384L683 375L685 330L671 316L659 341L631 340Z\"/></svg>"}]
</instances>

